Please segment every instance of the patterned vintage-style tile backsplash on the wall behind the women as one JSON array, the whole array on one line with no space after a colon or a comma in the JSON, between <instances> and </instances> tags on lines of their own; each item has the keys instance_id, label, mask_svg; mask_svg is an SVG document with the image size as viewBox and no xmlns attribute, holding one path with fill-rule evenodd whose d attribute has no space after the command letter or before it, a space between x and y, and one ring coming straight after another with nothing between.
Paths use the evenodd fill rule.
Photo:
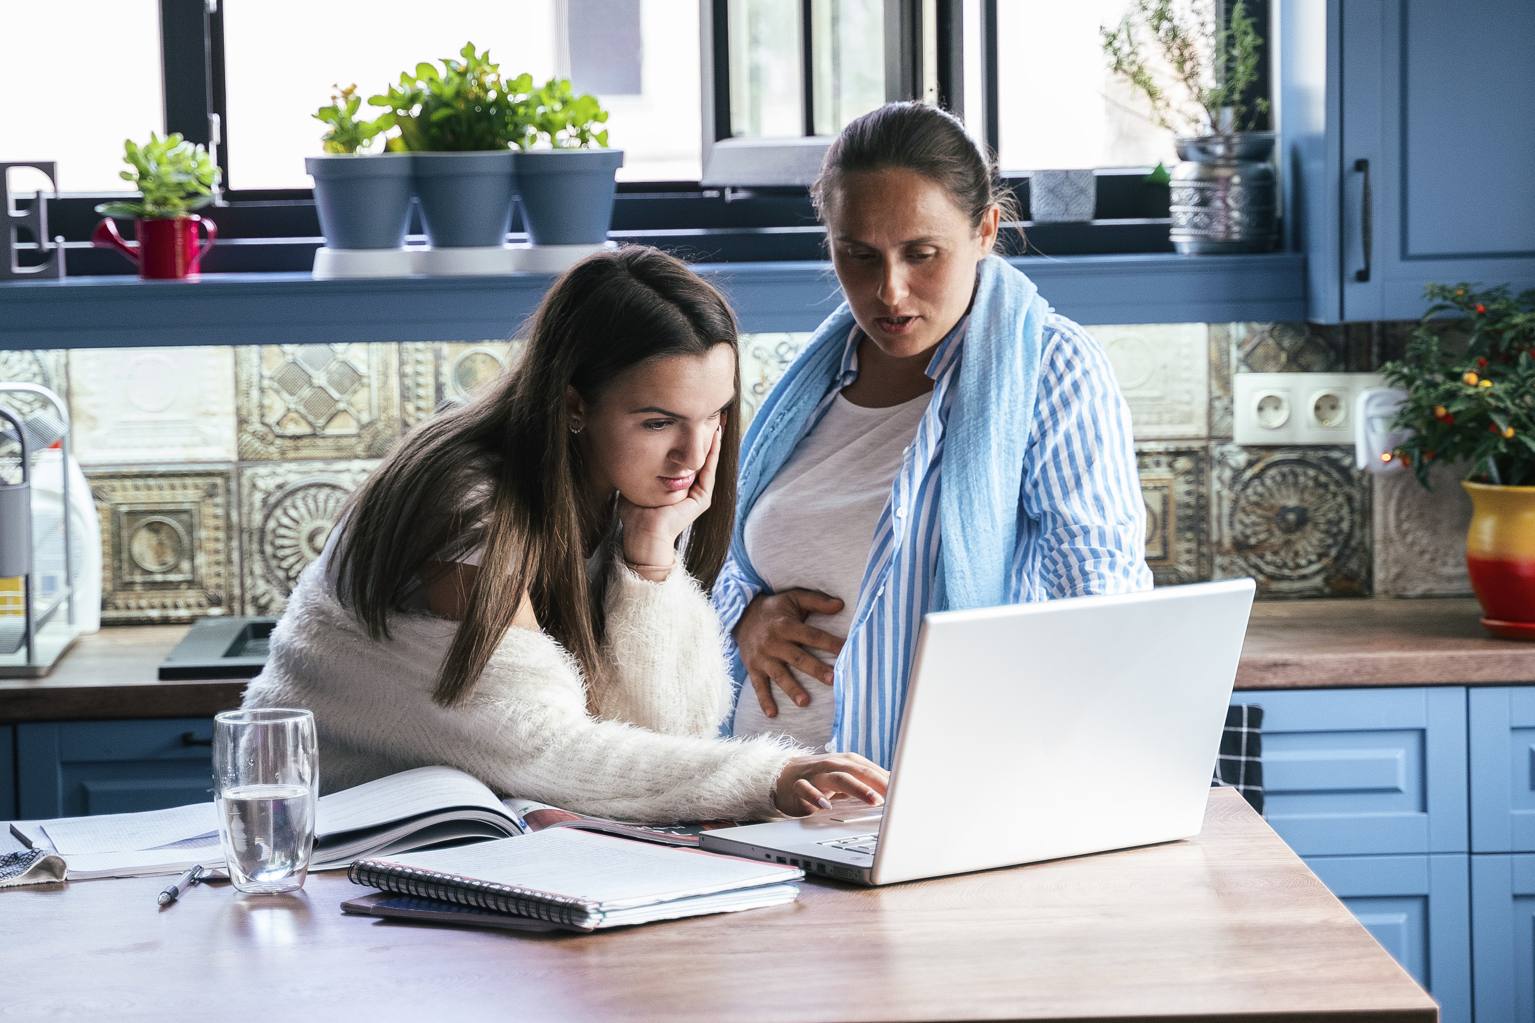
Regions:
<instances>
[{"instance_id":1,"label":"patterned vintage-style tile backsplash on the wall behind the women","mask_svg":"<svg viewBox=\"0 0 1535 1023\"><path fill-rule=\"evenodd\" d=\"M1366 477L1343 448L1245 448L1231 379L1355 371L1401 324L1088 327L1134 419L1159 584L1253 575L1265 598L1469 592L1469 503ZM741 337L748 420L809 334ZM404 431L516 359L502 340L0 351L0 379L64 396L101 512L103 620L279 613L347 495ZM34 399L0 402L25 413Z\"/></svg>"}]
</instances>

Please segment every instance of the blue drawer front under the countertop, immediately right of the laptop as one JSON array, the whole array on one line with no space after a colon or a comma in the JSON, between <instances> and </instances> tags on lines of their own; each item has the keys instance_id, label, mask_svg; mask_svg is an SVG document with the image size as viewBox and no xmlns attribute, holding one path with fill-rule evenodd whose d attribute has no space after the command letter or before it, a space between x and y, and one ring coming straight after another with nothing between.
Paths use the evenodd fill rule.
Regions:
<instances>
[{"instance_id":1,"label":"blue drawer front under the countertop, immediately right of the laptop","mask_svg":"<svg viewBox=\"0 0 1535 1023\"><path fill-rule=\"evenodd\" d=\"M1466 690L1237 692L1263 707L1263 807L1302 856L1464 853Z\"/></svg>"}]
</instances>

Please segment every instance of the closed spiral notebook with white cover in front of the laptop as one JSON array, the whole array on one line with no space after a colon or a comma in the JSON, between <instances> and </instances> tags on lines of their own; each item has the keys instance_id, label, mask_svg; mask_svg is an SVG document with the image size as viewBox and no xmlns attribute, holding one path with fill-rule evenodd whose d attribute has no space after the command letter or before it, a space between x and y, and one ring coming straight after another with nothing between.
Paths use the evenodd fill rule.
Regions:
<instances>
[{"instance_id":1,"label":"closed spiral notebook with white cover in front of the laptop","mask_svg":"<svg viewBox=\"0 0 1535 1023\"><path fill-rule=\"evenodd\" d=\"M734 856L551 828L457 848L364 859L353 863L347 877L401 896L585 931L777 905L797 894L789 882L804 873Z\"/></svg>"}]
</instances>

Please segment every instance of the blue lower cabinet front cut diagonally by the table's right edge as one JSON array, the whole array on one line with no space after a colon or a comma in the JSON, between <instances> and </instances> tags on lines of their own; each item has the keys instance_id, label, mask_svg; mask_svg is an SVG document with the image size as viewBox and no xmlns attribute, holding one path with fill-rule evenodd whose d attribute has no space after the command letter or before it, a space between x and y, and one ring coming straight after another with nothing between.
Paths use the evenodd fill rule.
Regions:
<instances>
[{"instance_id":1,"label":"blue lower cabinet front cut diagonally by the table's right edge","mask_svg":"<svg viewBox=\"0 0 1535 1023\"><path fill-rule=\"evenodd\" d=\"M1306 859L1365 929L1438 1000L1444 1023L1472 1020L1469 859L1463 853Z\"/></svg>"}]
</instances>

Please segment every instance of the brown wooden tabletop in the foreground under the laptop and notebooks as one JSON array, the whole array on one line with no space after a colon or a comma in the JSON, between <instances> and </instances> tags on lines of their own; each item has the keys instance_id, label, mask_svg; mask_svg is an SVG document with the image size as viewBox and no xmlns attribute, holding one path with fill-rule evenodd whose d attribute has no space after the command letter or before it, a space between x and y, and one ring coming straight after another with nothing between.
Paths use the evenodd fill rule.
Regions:
<instances>
[{"instance_id":1,"label":"brown wooden tabletop in the foreground under the laptop and notebooks","mask_svg":"<svg viewBox=\"0 0 1535 1023\"><path fill-rule=\"evenodd\" d=\"M347 917L336 873L160 910L164 883L0 890L0 1017L1437 1020L1234 790L1188 842L594 934Z\"/></svg>"}]
</instances>

